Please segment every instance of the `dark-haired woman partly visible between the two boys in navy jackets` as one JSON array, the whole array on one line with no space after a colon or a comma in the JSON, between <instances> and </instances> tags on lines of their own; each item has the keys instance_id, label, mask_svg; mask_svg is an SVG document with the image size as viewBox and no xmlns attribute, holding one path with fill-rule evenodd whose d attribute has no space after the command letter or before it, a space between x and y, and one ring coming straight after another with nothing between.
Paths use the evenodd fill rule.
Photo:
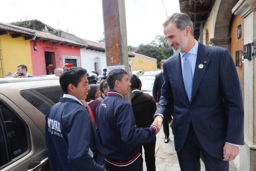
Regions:
<instances>
[{"instance_id":1,"label":"dark-haired woman partly visible between the two boys in navy jackets","mask_svg":"<svg viewBox=\"0 0 256 171\"><path fill-rule=\"evenodd\" d=\"M93 112L94 118L96 118L96 108L100 103L100 100L98 100L99 97L100 97L99 86L97 84L90 84L90 90L88 92L86 101Z\"/></svg>"}]
</instances>

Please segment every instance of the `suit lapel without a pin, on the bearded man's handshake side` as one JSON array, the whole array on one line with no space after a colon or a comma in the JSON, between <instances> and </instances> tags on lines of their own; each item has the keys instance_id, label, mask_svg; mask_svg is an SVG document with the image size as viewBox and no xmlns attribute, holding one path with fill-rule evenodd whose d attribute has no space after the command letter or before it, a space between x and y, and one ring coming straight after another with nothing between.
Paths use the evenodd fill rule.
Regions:
<instances>
[{"instance_id":1,"label":"suit lapel without a pin, on the bearded man's handshake side","mask_svg":"<svg viewBox=\"0 0 256 171\"><path fill-rule=\"evenodd\" d=\"M180 53L177 54L176 59L175 59L175 68L174 68L174 72L175 72L175 77L176 77L176 81L178 84L178 87L181 89L181 93L183 95L183 97L186 99L187 102L188 101L188 97L187 97L187 93L185 90L185 86L184 86L184 81L183 81L183 76L182 76L182 68L181 68L181 59L180 59Z\"/></svg>"}]
</instances>

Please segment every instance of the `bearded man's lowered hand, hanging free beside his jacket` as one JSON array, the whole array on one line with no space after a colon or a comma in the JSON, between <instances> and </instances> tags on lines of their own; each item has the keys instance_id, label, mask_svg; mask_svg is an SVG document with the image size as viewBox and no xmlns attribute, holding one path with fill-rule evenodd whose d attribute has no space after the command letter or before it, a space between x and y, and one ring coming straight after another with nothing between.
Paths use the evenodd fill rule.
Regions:
<instances>
[{"instance_id":1,"label":"bearded man's lowered hand, hanging free beside his jacket","mask_svg":"<svg viewBox=\"0 0 256 171\"><path fill-rule=\"evenodd\" d=\"M239 147L225 143L225 145L223 147L223 154L224 154L224 156L223 156L224 161L234 160L234 159L236 159L237 155L239 154Z\"/></svg>"}]
</instances>

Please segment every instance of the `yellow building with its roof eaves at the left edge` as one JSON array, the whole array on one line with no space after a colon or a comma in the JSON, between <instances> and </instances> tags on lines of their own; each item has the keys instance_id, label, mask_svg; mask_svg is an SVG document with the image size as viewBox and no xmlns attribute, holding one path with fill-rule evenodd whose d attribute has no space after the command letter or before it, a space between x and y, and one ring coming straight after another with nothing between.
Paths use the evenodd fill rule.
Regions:
<instances>
[{"instance_id":1,"label":"yellow building with its roof eaves at the left edge","mask_svg":"<svg viewBox=\"0 0 256 171\"><path fill-rule=\"evenodd\" d=\"M34 31L0 23L0 77L16 72L19 65L26 65L33 74L30 39L34 38Z\"/></svg>"}]
</instances>

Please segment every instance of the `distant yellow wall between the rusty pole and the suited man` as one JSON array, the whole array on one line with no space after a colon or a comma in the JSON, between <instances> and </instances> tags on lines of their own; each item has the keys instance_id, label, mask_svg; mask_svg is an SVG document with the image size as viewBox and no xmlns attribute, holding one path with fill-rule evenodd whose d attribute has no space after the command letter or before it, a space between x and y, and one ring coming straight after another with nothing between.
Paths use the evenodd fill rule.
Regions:
<instances>
[{"instance_id":1,"label":"distant yellow wall between the rusty pole and the suited man","mask_svg":"<svg viewBox=\"0 0 256 171\"><path fill-rule=\"evenodd\" d=\"M132 58L132 71L135 70L144 70L144 71L152 71L157 69L157 61L148 61Z\"/></svg>"}]
</instances>

